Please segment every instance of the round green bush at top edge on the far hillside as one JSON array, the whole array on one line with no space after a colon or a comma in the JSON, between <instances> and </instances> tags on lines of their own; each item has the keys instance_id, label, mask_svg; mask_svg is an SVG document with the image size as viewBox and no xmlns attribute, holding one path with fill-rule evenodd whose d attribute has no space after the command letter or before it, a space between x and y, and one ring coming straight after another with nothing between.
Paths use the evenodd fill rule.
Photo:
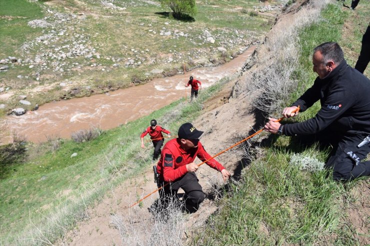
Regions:
<instances>
[{"instance_id":1,"label":"round green bush at top edge on the far hillside","mask_svg":"<svg viewBox=\"0 0 370 246\"><path fill-rule=\"evenodd\" d=\"M174 18L181 18L183 14L196 14L195 0L159 0L162 7L169 7Z\"/></svg>"}]
</instances>

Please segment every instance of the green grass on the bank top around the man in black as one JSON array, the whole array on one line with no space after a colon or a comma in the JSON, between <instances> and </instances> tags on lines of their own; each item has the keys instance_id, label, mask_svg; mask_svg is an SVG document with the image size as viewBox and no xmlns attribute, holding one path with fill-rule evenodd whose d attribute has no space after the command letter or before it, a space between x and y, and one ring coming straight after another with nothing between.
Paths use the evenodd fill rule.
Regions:
<instances>
[{"instance_id":1,"label":"green grass on the bank top around the man in black","mask_svg":"<svg viewBox=\"0 0 370 246\"><path fill-rule=\"evenodd\" d=\"M284 104L295 101L316 78L311 64L315 46L326 41L338 41L341 46L351 43L342 36L344 22L352 22L348 11L330 4L321 12L321 21L300 31L300 66L294 73L298 89ZM368 8L363 16L366 14ZM312 118L319 108L315 104L292 121ZM311 173L289 163L293 153L325 162L330 149L302 147L286 136L274 136L273 140L263 149L264 157L252 161L241 180L230 186L220 202L221 209L198 230L192 244L359 245L345 218L343 199L348 189L334 182L330 171Z\"/></svg>"}]
</instances>

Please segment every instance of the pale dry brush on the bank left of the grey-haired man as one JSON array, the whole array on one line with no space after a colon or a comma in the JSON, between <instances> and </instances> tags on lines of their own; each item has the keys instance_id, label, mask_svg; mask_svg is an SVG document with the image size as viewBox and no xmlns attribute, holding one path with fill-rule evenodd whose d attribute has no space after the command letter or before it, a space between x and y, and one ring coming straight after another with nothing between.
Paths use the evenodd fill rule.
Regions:
<instances>
[{"instance_id":1,"label":"pale dry brush on the bank left of the grey-haired man","mask_svg":"<svg viewBox=\"0 0 370 246\"><path fill-rule=\"evenodd\" d=\"M289 25L275 27L265 41L268 52L258 57L257 69L235 88L238 94L248 92L252 105L266 113L281 106L287 95L296 88L292 74L298 67L298 32L319 20L320 10L328 0L312 0L301 9Z\"/></svg>"}]
</instances>

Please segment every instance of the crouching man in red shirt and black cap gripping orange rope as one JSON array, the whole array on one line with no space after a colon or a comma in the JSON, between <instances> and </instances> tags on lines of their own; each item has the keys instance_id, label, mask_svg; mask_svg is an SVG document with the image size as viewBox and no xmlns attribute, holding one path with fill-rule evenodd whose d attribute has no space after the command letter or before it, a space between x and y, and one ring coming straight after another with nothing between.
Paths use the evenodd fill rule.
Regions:
<instances>
[{"instance_id":1,"label":"crouching man in red shirt and black cap gripping orange rope","mask_svg":"<svg viewBox=\"0 0 370 246\"><path fill-rule=\"evenodd\" d=\"M205 195L195 175L198 166L193 161L196 157L201 161L211 158L199 142L202 133L196 130L191 123L182 124L178 129L178 138L164 145L156 166L160 182L163 184L170 182L162 189L161 199L163 197L168 199L169 196L173 198L181 188L185 192L186 205L194 208L195 211L203 202ZM225 182L229 178L230 173L216 160L211 159L206 164L221 172Z\"/></svg>"}]
</instances>

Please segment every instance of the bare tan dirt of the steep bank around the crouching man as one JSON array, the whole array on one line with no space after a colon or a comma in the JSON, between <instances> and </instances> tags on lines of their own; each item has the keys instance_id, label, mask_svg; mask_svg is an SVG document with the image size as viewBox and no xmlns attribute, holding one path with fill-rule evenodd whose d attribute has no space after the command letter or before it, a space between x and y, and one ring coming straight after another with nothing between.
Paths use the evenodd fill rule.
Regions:
<instances>
[{"instance_id":1,"label":"bare tan dirt of the steep bank around the crouching man","mask_svg":"<svg viewBox=\"0 0 370 246\"><path fill-rule=\"evenodd\" d=\"M304 4L305 1L297 2L297 7ZM276 26L289 23L290 17L294 14L294 9L284 16L280 16ZM276 28L276 27L274 27ZM247 67L254 63L256 57L263 55L268 50L261 45L257 48L253 56L246 61ZM203 107L201 116L192 122L197 129L204 131L201 142L207 152L211 155L231 146L237 141L248 135L252 127L259 128L263 122L256 120L249 105L249 95L241 94L238 97L232 97L233 86L238 80L248 79L249 72L255 69L255 66L249 70L240 73L239 77L230 81L222 91L209 99ZM258 130L258 129L257 129ZM231 173L237 176L246 163L240 160L243 158L242 151L230 150L216 159L222 163ZM197 161L197 163L200 163ZM157 198L157 193L144 200L141 206L135 206L129 209L136 196L143 196L153 191L156 186L153 183L151 167L140 177L128 180L119 187L106 194L103 201L94 208L88 209L89 219L77 223L73 231L58 242L59 245L129 245L132 237L136 237L140 242L145 242L149 237L148 229L151 227L148 208ZM208 193L212 192L212 186L222 184L221 176L218 172L203 165L197 172L197 177L203 189ZM369 201L367 199L370 185L368 182L362 182L353 191L353 197L356 202L352 203L348 209L350 223L356 229L357 233L368 233L367 218L370 216ZM207 217L215 212L217 207L215 203L206 199L197 213L184 215L184 227L182 239L186 241L191 237L192 229L201 225ZM129 230L126 235L120 235L120 232L112 224L114 217L122 218L123 223L128 223ZM122 233L122 231L121 231ZM124 234L124 233L123 233ZM358 235L357 235L358 236ZM363 245L368 244L368 239L359 235Z\"/></svg>"}]
</instances>

